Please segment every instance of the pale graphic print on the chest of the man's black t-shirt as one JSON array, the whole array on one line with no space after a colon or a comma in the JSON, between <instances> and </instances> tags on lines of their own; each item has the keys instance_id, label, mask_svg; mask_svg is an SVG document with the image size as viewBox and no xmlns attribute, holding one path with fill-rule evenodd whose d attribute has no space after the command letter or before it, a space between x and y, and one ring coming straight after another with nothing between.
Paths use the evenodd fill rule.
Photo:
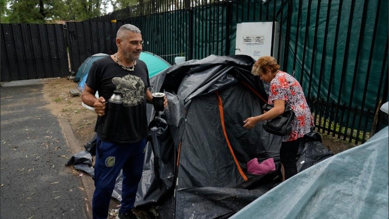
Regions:
<instances>
[{"instance_id":1,"label":"pale graphic print on the chest of the man's black t-shirt","mask_svg":"<svg viewBox=\"0 0 389 219\"><path fill-rule=\"evenodd\" d=\"M112 83L116 85L117 91L122 92L123 106L136 106L143 102L144 83L140 77L135 75L114 77Z\"/></svg>"}]
</instances>

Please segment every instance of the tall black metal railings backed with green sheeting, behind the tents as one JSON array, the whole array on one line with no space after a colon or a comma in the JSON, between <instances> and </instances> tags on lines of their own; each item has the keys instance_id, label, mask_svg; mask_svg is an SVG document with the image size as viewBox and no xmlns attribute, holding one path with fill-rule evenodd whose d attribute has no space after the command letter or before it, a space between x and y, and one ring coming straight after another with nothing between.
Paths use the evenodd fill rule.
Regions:
<instances>
[{"instance_id":1,"label":"tall black metal railings backed with green sheeting, behind the tents","mask_svg":"<svg viewBox=\"0 0 389 219\"><path fill-rule=\"evenodd\" d=\"M357 145L388 125L379 110L388 101L387 8L387 0L152 0L91 20L138 26L144 50L171 64L177 55L234 55L238 23L278 21L272 47L281 69L296 72L316 129Z\"/></svg>"}]
</instances>

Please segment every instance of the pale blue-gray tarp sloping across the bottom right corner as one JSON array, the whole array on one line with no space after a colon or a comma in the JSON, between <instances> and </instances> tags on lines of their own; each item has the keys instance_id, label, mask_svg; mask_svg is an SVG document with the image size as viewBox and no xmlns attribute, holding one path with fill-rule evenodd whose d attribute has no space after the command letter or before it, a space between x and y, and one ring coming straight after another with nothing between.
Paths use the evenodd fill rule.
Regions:
<instances>
[{"instance_id":1,"label":"pale blue-gray tarp sloping across the bottom right corner","mask_svg":"<svg viewBox=\"0 0 389 219\"><path fill-rule=\"evenodd\" d=\"M388 127L281 183L231 219L388 218Z\"/></svg>"}]
</instances>

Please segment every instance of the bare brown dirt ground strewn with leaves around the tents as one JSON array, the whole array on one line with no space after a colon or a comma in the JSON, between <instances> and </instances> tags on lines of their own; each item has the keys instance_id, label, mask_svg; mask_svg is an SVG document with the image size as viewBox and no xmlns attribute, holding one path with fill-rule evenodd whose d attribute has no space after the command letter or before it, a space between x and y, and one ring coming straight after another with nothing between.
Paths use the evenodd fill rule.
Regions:
<instances>
[{"instance_id":1,"label":"bare brown dirt ground strewn with leaves around the tents","mask_svg":"<svg viewBox=\"0 0 389 219\"><path fill-rule=\"evenodd\" d=\"M84 145L94 135L96 113L81 105L81 96L72 96L70 90L76 90L77 83L68 78L46 79L44 84L44 97L48 103L47 108L59 118L66 118L80 145L80 151L85 150ZM322 135L322 143L334 154L354 147L354 145L343 142L332 137ZM113 199L112 199L113 200ZM120 203L111 201L110 218L116 216L115 209Z\"/></svg>"}]
</instances>

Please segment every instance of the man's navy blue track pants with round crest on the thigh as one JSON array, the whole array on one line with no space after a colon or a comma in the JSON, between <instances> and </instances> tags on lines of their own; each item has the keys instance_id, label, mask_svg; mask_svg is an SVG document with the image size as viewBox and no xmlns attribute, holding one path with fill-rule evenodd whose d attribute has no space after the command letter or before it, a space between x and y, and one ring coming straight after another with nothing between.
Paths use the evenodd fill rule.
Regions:
<instances>
[{"instance_id":1,"label":"man's navy blue track pants with round crest on the thigh","mask_svg":"<svg viewBox=\"0 0 389 219\"><path fill-rule=\"evenodd\" d=\"M116 178L123 169L121 213L134 207L138 183L141 180L146 139L128 144L96 139L94 165L95 191L92 200L93 219L106 219Z\"/></svg>"}]
</instances>

